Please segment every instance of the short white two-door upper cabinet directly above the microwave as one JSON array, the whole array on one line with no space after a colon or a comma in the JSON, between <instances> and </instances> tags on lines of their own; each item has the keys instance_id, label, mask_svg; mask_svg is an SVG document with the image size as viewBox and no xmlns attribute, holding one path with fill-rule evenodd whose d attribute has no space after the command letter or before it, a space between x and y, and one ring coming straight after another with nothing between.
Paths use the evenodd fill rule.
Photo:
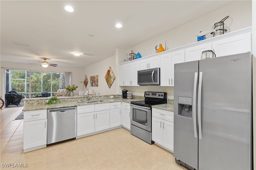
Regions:
<instances>
[{"instance_id":1,"label":"short white two-door upper cabinet directly above the microwave","mask_svg":"<svg viewBox=\"0 0 256 170\"><path fill-rule=\"evenodd\" d=\"M140 70L153 69L160 67L160 56L140 59Z\"/></svg>"}]
</instances>

